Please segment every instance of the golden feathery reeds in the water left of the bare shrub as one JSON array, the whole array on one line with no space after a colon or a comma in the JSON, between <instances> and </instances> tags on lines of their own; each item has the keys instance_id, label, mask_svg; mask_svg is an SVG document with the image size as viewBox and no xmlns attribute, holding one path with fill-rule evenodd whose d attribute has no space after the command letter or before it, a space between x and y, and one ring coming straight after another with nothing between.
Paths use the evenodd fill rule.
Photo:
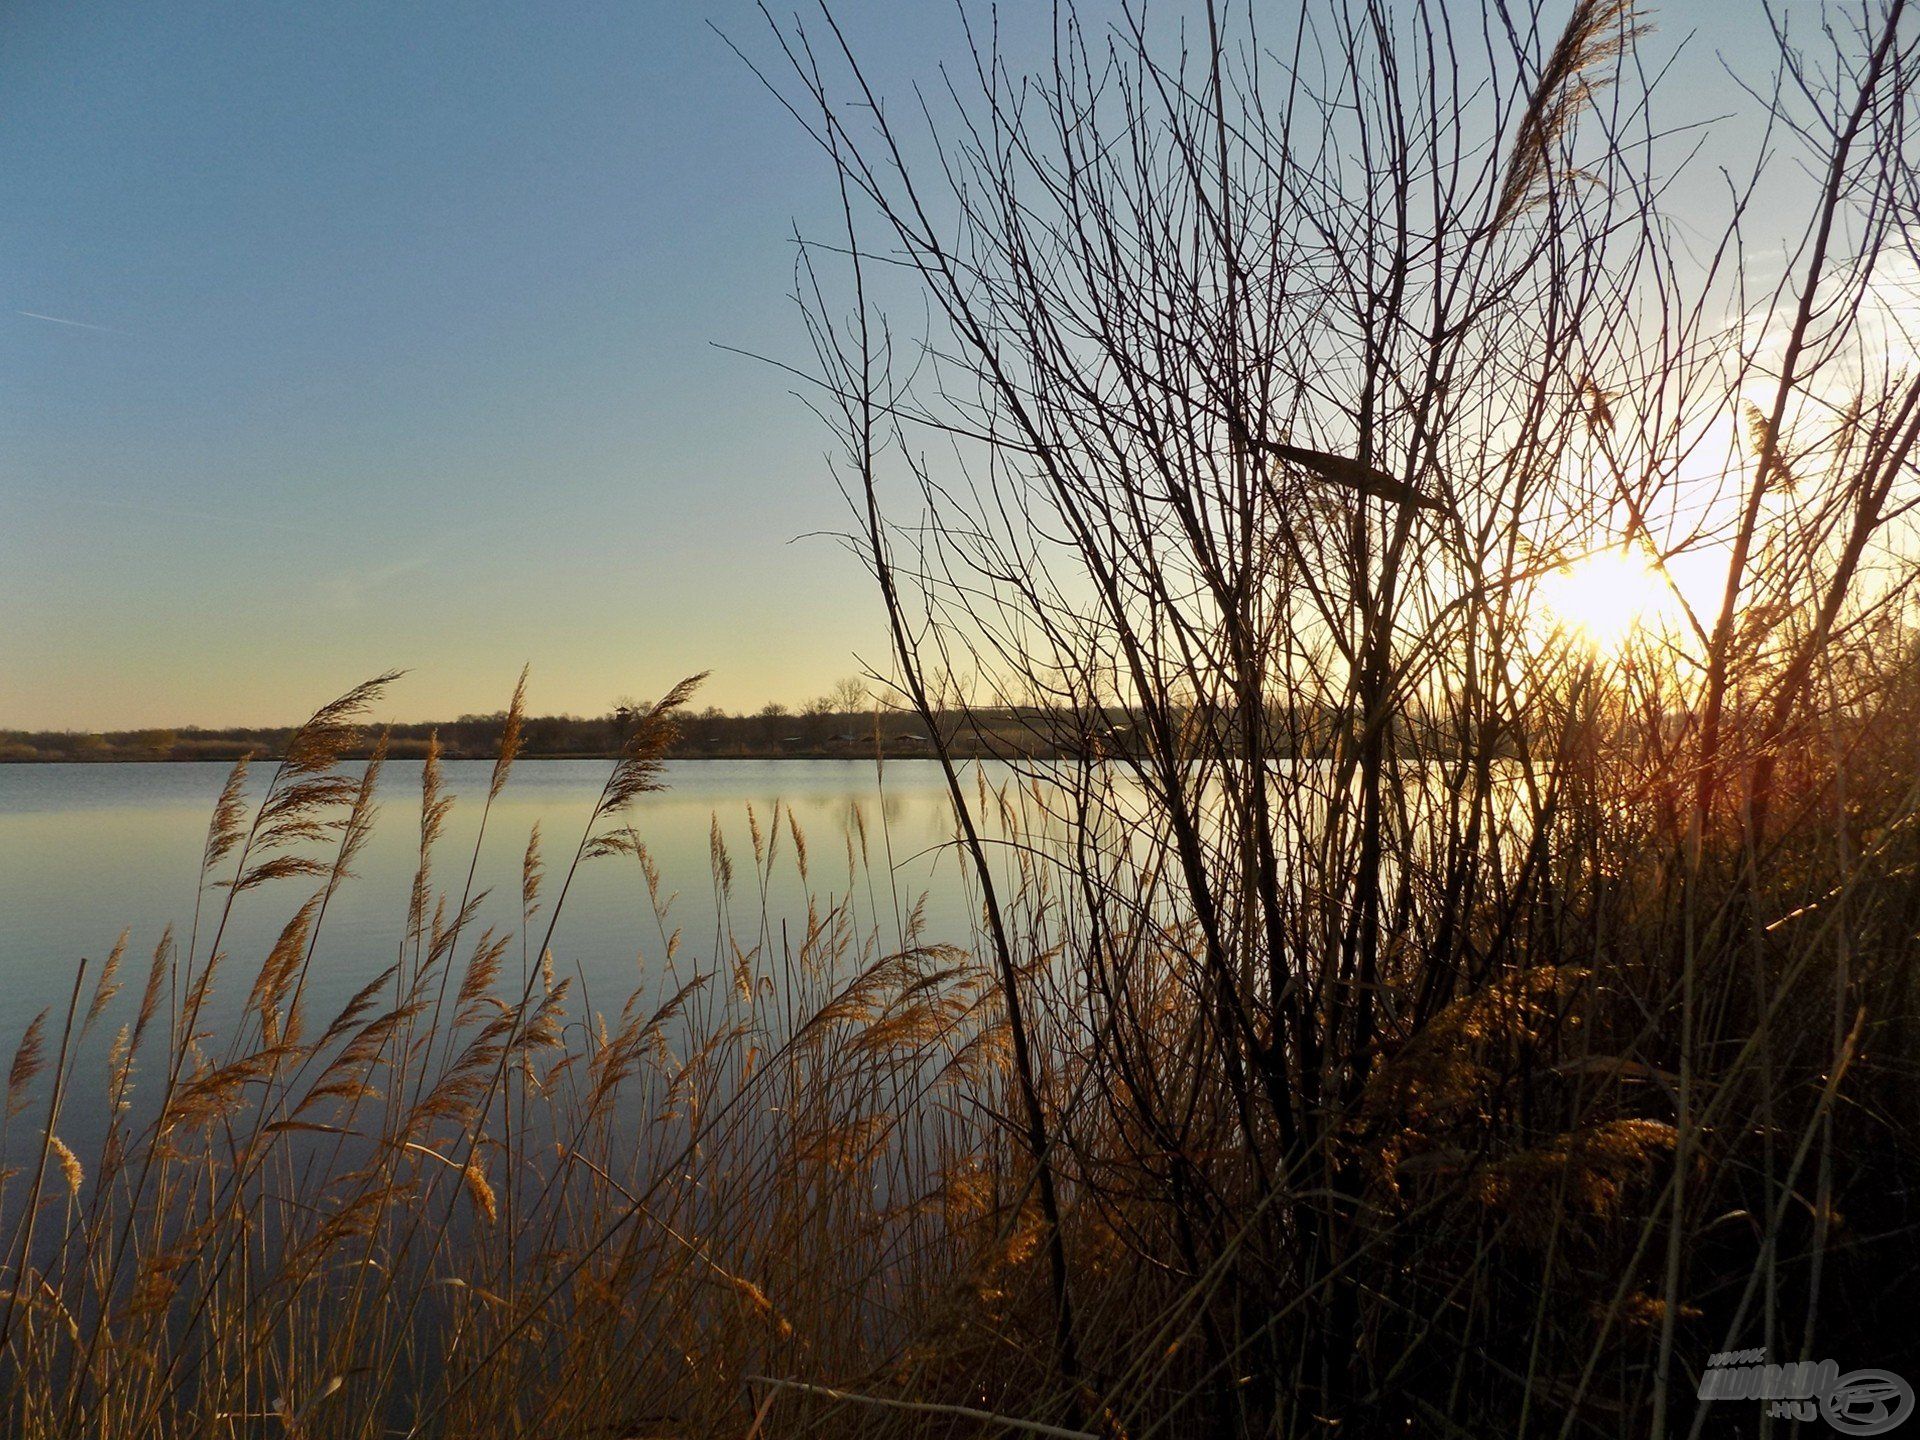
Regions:
<instances>
[{"instance_id":1,"label":"golden feathery reeds in the water left of the bare shrub","mask_svg":"<svg viewBox=\"0 0 1920 1440\"><path fill-rule=\"evenodd\" d=\"M783 810L751 856L716 826L716 945L682 948L643 799L695 684L634 726L570 852L530 837L516 931L476 920L488 816L440 852L430 756L399 939L334 1014L311 966L380 781L338 756L384 680L315 714L255 804L234 768L192 927L125 993L123 948L79 975L13 1058L8 1434L745 1432L816 1405L751 1377L883 1373L902 1315L1000 1263L962 1117L998 1094L1000 1020L962 950L918 910L770 914L776 868L810 866ZM852 879L868 835L845 839ZM591 1012L551 950L588 864L634 866L662 937ZM242 906L288 916L265 954L230 952ZM213 1029L223 985L244 1004Z\"/></svg>"}]
</instances>

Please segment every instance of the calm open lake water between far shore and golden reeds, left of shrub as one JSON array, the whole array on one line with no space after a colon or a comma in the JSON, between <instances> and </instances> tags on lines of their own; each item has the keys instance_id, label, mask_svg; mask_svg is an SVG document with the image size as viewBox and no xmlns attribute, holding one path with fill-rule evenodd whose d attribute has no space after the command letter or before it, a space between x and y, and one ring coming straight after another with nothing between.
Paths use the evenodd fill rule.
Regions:
<instances>
[{"instance_id":1,"label":"calm open lake water between far shore and golden reeds, left of shrub","mask_svg":"<svg viewBox=\"0 0 1920 1440\"><path fill-rule=\"evenodd\" d=\"M434 877L453 891L449 908L465 883L488 774L490 766L478 760L445 766L445 789L457 801L436 851ZM207 816L225 776L221 764L0 766L0 1064L42 1006L56 1006L50 1023L58 1021L83 956L92 960L86 981L92 985L123 929L132 933L121 975L127 993L104 1033L111 1033L121 1012L131 1012L163 927L173 922L184 939L192 925ZM601 760L522 760L515 768L480 847L474 889L492 891L480 925L518 929L520 856L536 822L551 902L605 778ZM328 910L317 948L315 1018L328 1016L328 1004L338 1006L396 956L419 847L419 783L417 762L386 768L372 841L355 864L357 877ZM666 783L664 793L641 797L632 812L634 829L659 864L662 899L676 897L666 925L655 922L639 866L628 856L609 856L582 868L555 931L561 973L580 975L595 1008L618 1010L636 985L664 977L666 933L674 927L684 931L682 972L712 956L716 899L708 847L716 818L733 858L733 929L743 939L760 933L749 810L768 831L776 804L780 854L766 891L776 947L781 920L795 945L806 925L789 812L806 837L806 889L822 902L851 895L860 918L877 922L891 939L895 916L924 893L933 935L964 939L968 900L950 851L952 810L935 764L889 762L881 789L874 766L862 762L684 760L668 764ZM866 826L872 860L866 868L858 864L856 810ZM225 1004L213 1016L215 1025L230 1014L225 1006L244 996L265 948L311 889L313 881L286 879L242 897L223 941L230 960L223 968ZM205 910L217 904L219 895L209 891ZM518 972L518 948L509 950L511 973Z\"/></svg>"}]
</instances>

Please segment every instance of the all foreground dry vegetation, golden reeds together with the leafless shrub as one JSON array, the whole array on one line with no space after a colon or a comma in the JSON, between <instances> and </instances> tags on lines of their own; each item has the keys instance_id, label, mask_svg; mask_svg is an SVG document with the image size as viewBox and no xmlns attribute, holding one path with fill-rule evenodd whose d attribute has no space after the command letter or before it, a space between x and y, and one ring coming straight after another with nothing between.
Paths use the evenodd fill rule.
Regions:
<instances>
[{"instance_id":1,"label":"all foreground dry vegetation, golden reeds together with the leafless shrub","mask_svg":"<svg viewBox=\"0 0 1920 1440\"><path fill-rule=\"evenodd\" d=\"M1920 21L1784 50L1780 271L1749 188L1718 248L1663 219L1644 15L1455 12L1066 13L1033 81L981 40L931 156L831 21L776 31L899 703L973 674L1077 758L948 762L970 945L768 914L826 864L774 824L605 1018L545 939L576 866L653 879L689 689L515 933L440 879L430 760L397 952L309 1016L378 774L336 764L372 687L323 710L192 931L19 1050L6 1427L1749 1434L1713 1352L1920 1379ZM1718 580L1594 647L1536 582L1603 547ZM820 889L891 889L868 839Z\"/></svg>"}]
</instances>

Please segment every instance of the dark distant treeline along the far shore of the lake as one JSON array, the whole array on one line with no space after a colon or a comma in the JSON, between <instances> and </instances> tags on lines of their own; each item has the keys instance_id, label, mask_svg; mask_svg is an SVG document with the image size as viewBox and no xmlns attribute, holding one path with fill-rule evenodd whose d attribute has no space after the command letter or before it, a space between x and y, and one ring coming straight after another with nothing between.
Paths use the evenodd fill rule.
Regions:
<instances>
[{"instance_id":1,"label":"dark distant treeline along the far shore of the lake","mask_svg":"<svg viewBox=\"0 0 1920 1440\"><path fill-rule=\"evenodd\" d=\"M620 705L603 716L551 714L524 722L520 755L526 758L612 758L622 737L645 703ZM432 737L447 760L492 760L499 753L505 712L463 714L457 720L394 724L386 728L388 756L422 758ZM1187 716L1190 720L1190 716ZM1298 720L1298 716L1296 716ZM1227 714L1215 722L1229 733ZM956 758L1056 758L1077 753L1119 755L1135 749L1139 716L1121 708L1081 716L1037 707L993 707L939 710L939 733ZM1336 724L1294 724L1286 732L1300 737L1298 751L1329 753ZM1396 726L1404 732L1404 724ZM0 730L0 762L31 764L54 760L234 760L242 755L271 756L286 749L292 726L180 730ZM371 732L380 733L380 732ZM1398 733L1404 747L1448 749L1432 733ZM1269 739L1269 745L1273 741ZM365 755L367 747L353 751ZM816 701L803 710L768 705L753 714L720 708L682 716L680 739L670 755L703 758L835 758L862 760L929 756L933 732L910 710L835 710Z\"/></svg>"}]
</instances>

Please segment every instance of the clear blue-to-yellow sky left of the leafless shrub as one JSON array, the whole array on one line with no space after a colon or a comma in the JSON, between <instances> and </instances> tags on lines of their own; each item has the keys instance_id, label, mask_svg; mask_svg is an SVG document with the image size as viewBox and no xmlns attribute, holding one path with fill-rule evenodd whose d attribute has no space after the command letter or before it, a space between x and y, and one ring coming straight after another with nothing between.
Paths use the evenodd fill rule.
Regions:
<instances>
[{"instance_id":1,"label":"clear blue-to-yellow sky left of the leafless shrub","mask_svg":"<svg viewBox=\"0 0 1920 1440\"><path fill-rule=\"evenodd\" d=\"M941 0L837 10L883 81L956 54ZM831 184L708 19L764 52L745 0L12 0L0 726L286 722L392 666L449 716L522 660L543 712L699 668L756 707L883 651L804 538L829 436L714 348L801 357Z\"/></svg>"}]
</instances>

